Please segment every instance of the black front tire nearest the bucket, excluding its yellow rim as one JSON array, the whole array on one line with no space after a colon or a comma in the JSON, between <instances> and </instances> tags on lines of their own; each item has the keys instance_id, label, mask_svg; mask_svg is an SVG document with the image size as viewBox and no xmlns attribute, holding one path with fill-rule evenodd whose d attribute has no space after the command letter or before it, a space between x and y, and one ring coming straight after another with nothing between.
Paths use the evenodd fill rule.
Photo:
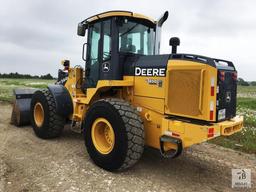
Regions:
<instances>
[{"instance_id":1,"label":"black front tire nearest the bucket, excluding its yellow rim","mask_svg":"<svg viewBox=\"0 0 256 192\"><path fill-rule=\"evenodd\" d=\"M44 110L42 126L37 126L34 119L34 107L40 103ZM56 103L50 91L43 89L36 91L31 100L30 119L35 134L42 139L51 139L61 135L65 125L65 118L56 113Z\"/></svg>"}]
</instances>

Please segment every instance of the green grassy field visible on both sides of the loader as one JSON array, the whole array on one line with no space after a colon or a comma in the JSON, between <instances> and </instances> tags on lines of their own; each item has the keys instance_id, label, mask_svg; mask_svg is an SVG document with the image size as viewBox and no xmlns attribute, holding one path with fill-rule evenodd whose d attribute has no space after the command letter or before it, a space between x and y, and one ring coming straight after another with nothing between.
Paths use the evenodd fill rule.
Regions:
<instances>
[{"instance_id":1,"label":"green grassy field visible on both sides of the loader","mask_svg":"<svg viewBox=\"0 0 256 192\"><path fill-rule=\"evenodd\" d=\"M0 79L0 100L11 102L14 88L45 88L51 83L54 83L54 80ZM238 87L237 113L245 118L243 131L229 137L218 137L210 142L248 153L256 153L256 86Z\"/></svg>"}]
</instances>

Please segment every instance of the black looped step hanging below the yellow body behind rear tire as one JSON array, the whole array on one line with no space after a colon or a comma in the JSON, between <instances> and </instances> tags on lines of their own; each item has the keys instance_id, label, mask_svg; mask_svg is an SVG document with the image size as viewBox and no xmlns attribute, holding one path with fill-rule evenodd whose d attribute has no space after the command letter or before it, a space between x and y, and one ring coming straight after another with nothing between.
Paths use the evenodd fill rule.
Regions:
<instances>
[{"instance_id":1,"label":"black looped step hanging below the yellow body behind rear tire","mask_svg":"<svg viewBox=\"0 0 256 192\"><path fill-rule=\"evenodd\" d=\"M165 151L164 143L172 143L177 146L177 149ZM176 158L182 153L182 141L178 138L163 135L160 137L160 153L165 158Z\"/></svg>"}]
</instances>

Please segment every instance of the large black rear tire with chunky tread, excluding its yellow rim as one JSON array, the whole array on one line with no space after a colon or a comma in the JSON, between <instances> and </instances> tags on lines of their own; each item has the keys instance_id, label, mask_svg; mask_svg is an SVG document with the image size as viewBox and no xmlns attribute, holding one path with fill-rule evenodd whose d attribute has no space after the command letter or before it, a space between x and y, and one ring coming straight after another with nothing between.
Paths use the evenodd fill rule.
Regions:
<instances>
[{"instance_id":1,"label":"large black rear tire with chunky tread, excluding its yellow rim","mask_svg":"<svg viewBox=\"0 0 256 192\"><path fill-rule=\"evenodd\" d=\"M91 136L93 122L105 118L113 127L115 144L109 154L100 153ZM102 99L89 108L84 122L87 151L96 165L108 171L132 167L144 151L144 127L138 112L121 99Z\"/></svg>"}]
</instances>

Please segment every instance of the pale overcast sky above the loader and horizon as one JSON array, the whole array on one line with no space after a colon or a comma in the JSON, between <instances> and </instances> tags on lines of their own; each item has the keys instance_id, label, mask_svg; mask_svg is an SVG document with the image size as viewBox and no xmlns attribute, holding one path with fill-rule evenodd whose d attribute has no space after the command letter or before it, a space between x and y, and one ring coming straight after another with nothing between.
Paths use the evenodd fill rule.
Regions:
<instances>
[{"instance_id":1,"label":"pale overcast sky above the loader and horizon","mask_svg":"<svg viewBox=\"0 0 256 192\"><path fill-rule=\"evenodd\" d=\"M62 59L84 65L85 38L76 35L83 19L109 10L128 10L158 19L161 53L179 37L179 53L232 61L238 76L256 80L255 0L0 0L0 73L57 76Z\"/></svg>"}]
</instances>

